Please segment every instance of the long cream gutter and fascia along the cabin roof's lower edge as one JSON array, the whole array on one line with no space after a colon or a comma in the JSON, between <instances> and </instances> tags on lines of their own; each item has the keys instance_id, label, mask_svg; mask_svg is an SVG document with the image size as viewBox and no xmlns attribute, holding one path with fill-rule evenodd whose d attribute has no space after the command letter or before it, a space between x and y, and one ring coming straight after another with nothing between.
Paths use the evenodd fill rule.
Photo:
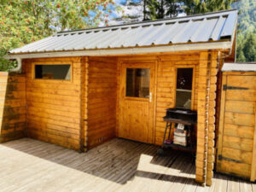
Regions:
<instances>
[{"instance_id":1,"label":"long cream gutter and fascia along the cabin roof's lower edge","mask_svg":"<svg viewBox=\"0 0 256 192\"><path fill-rule=\"evenodd\" d=\"M212 42L201 44L174 44L168 46L153 46L153 47L134 47L124 49L88 49L88 50L74 50L74 51L58 51L58 52L41 52L41 53L25 53L12 54L4 56L7 60L15 59L32 59L32 58L47 58L47 57L67 57L67 56L106 56L106 55L137 55L148 53L166 53L177 51L191 51L191 50L206 50L206 49L223 49L231 50L232 41Z\"/></svg>"}]
</instances>

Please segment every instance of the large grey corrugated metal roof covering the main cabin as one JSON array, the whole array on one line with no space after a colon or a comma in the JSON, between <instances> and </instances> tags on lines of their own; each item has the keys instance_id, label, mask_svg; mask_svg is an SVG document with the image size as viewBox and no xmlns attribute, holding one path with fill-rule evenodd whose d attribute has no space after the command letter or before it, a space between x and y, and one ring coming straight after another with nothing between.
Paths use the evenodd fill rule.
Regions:
<instances>
[{"instance_id":1,"label":"large grey corrugated metal roof covering the main cabin","mask_svg":"<svg viewBox=\"0 0 256 192\"><path fill-rule=\"evenodd\" d=\"M109 49L231 40L237 11L220 11L167 20L58 32L10 54L83 49Z\"/></svg>"}]
</instances>

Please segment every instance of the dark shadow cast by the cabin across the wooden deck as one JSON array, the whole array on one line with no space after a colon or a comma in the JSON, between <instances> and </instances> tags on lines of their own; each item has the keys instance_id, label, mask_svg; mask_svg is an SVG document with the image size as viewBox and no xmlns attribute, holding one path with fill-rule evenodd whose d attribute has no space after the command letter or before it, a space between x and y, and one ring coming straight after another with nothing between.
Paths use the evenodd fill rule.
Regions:
<instances>
[{"instance_id":1,"label":"dark shadow cast by the cabin across the wooden deck","mask_svg":"<svg viewBox=\"0 0 256 192\"><path fill-rule=\"evenodd\" d=\"M195 168L189 154L173 150L160 157L156 154L159 148L157 146L120 138L92 148L84 154L29 138L3 145L120 184L126 183L135 175L165 181L183 178L180 181L186 182L185 177L168 175L166 172L172 173L173 170L175 173L192 174Z\"/></svg>"}]
</instances>

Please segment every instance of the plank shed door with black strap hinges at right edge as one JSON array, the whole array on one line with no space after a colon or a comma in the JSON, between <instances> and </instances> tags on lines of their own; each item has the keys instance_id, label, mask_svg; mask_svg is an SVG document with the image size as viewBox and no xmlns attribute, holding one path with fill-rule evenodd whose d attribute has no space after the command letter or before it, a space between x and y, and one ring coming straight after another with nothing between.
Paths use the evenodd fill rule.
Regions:
<instances>
[{"instance_id":1,"label":"plank shed door with black strap hinges at right edge","mask_svg":"<svg viewBox=\"0 0 256 192\"><path fill-rule=\"evenodd\" d=\"M255 180L256 76L224 75L217 171Z\"/></svg>"}]
</instances>

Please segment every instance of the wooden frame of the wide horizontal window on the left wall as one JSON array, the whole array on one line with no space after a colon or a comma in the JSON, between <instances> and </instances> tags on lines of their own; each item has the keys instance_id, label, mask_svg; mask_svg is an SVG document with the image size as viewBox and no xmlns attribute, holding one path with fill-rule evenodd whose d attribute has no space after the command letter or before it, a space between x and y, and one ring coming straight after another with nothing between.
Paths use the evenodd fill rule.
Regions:
<instances>
[{"instance_id":1,"label":"wooden frame of the wide horizontal window on the left wall","mask_svg":"<svg viewBox=\"0 0 256 192\"><path fill-rule=\"evenodd\" d=\"M70 79L36 79L36 66L37 65L70 65ZM60 83L73 83L73 62L72 61L45 61L45 62L33 62L32 63L32 80L35 81L55 81Z\"/></svg>"}]
</instances>

